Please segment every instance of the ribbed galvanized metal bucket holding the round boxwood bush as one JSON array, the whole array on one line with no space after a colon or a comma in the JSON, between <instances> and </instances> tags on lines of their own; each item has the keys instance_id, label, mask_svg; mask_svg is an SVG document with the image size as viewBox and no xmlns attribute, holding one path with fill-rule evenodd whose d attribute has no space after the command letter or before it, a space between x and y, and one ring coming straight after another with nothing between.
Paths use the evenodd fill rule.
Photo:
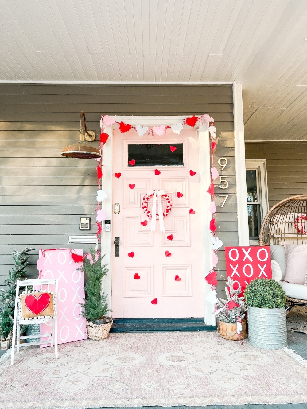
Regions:
<instances>
[{"instance_id":1,"label":"ribbed galvanized metal bucket holding the round boxwood bush","mask_svg":"<svg viewBox=\"0 0 307 409\"><path fill-rule=\"evenodd\" d=\"M288 346L286 310L282 308L247 307L249 343L262 349Z\"/></svg>"}]
</instances>

